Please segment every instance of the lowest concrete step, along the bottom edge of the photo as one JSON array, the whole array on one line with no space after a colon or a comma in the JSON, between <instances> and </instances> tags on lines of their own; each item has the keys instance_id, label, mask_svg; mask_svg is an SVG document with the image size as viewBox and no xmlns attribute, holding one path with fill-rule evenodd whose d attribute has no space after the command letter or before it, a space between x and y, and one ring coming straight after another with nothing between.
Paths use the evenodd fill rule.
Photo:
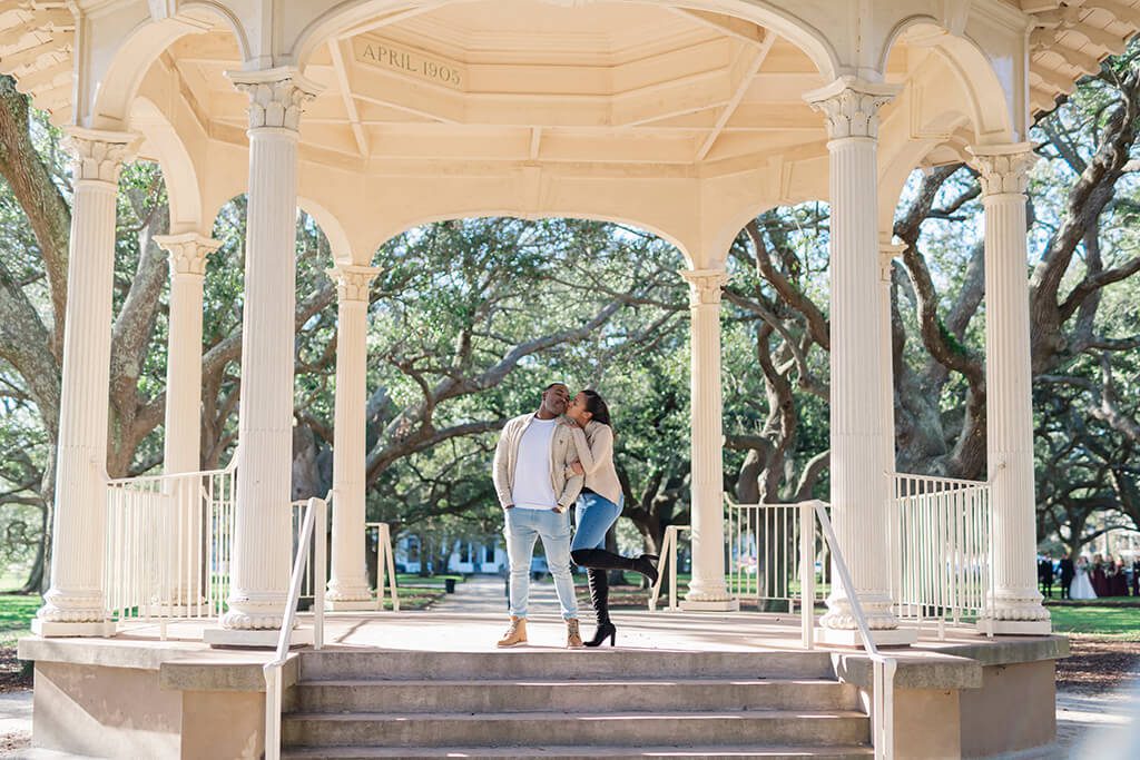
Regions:
<instances>
[{"instance_id":1,"label":"lowest concrete step, along the bottom edge of the photo","mask_svg":"<svg viewBox=\"0 0 1140 760\"><path fill-rule=\"evenodd\" d=\"M356 760L357 758L547 758L549 760L642 760L645 758L703 758L705 760L866 760L874 757L870 746L535 746L472 747L433 746L424 749L384 746L293 747L282 751L283 758L306 760Z\"/></svg>"}]
</instances>

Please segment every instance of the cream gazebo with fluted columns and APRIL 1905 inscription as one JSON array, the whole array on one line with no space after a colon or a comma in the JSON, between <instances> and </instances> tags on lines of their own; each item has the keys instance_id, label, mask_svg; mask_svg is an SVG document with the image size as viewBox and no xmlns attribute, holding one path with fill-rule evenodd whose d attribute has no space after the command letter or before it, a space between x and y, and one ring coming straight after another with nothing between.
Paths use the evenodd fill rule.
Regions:
<instances>
[{"instance_id":1,"label":"cream gazebo with fluted columns and APRIL 1905 inscription","mask_svg":"<svg viewBox=\"0 0 1140 760\"><path fill-rule=\"evenodd\" d=\"M150 558L145 572L178 580L160 599L171 615L201 608L206 577L213 583L225 566L228 590L209 600L217 616L207 641L268 645L285 614L299 207L332 244L340 300L331 608L373 604L363 409L373 254L417 224L513 215L620 221L684 254L693 579L683 606L726 612L736 600L725 580L722 496L725 259L758 213L813 199L831 205L832 521L876 640L913 641L893 598L898 493L882 278L907 177L960 161L980 173L985 205L979 624L1049 634L1035 573L1027 131L1035 113L1124 49L1140 27L1133 2L0 1L0 72L66 128L74 154L51 589L28 651L60 652L49 640L57 637L111 636L111 611L138 606L111 598L119 577L108 567L121 557L104 550L125 536L119 513L108 518L108 492L125 485L108 484L104 463L116 182L136 156L161 165L170 198L161 245L171 262L172 480L155 488L193 507L179 546L205 540L193 506L205 481L176 488L178 474L198 469L204 262L218 246L218 210L249 195L246 392L238 460L226 475L236 498L215 499L229 521L226 562L138 555ZM142 544L174 540L173 524L148 520L135 523ZM858 644L838 585L828 606L819 639Z\"/></svg>"}]
</instances>

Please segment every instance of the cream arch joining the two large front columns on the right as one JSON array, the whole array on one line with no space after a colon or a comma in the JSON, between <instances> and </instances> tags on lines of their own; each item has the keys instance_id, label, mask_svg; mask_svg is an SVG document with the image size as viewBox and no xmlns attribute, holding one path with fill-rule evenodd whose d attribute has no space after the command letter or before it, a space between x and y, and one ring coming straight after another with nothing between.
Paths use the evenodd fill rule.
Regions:
<instances>
[{"instance_id":1,"label":"cream arch joining the two large front columns on the right","mask_svg":"<svg viewBox=\"0 0 1140 760\"><path fill-rule=\"evenodd\" d=\"M966 96L963 112L977 144L1016 141L1017 120L1009 108L1011 95L990 56L969 36L968 30L955 34L926 15L904 18L887 35L879 59L880 71L886 71L890 52L906 33L921 34L923 46L935 50L954 74ZM1001 107L995 108L995 104Z\"/></svg>"}]
</instances>

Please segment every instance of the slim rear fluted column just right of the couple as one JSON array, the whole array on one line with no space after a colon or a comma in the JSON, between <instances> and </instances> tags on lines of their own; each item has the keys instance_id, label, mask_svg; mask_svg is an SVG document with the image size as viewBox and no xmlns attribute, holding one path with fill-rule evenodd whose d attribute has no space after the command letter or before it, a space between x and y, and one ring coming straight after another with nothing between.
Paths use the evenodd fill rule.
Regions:
<instances>
[{"instance_id":1,"label":"slim rear fluted column just right of the couple","mask_svg":"<svg viewBox=\"0 0 1140 760\"><path fill-rule=\"evenodd\" d=\"M724 581L724 473L720 397L720 288L724 270L681 272L689 283L693 577L683 610L736 610Z\"/></svg>"}]
</instances>

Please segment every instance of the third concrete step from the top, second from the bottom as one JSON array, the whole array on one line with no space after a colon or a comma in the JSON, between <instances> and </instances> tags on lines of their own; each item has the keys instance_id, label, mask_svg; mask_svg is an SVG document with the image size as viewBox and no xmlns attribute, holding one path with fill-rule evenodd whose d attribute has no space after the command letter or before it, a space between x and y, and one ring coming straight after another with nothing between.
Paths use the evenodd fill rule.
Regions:
<instances>
[{"instance_id":1,"label":"third concrete step from the top, second from the bottom","mask_svg":"<svg viewBox=\"0 0 1140 760\"><path fill-rule=\"evenodd\" d=\"M870 724L849 710L707 712L320 713L282 717L288 746L438 747L853 745Z\"/></svg>"}]
</instances>

